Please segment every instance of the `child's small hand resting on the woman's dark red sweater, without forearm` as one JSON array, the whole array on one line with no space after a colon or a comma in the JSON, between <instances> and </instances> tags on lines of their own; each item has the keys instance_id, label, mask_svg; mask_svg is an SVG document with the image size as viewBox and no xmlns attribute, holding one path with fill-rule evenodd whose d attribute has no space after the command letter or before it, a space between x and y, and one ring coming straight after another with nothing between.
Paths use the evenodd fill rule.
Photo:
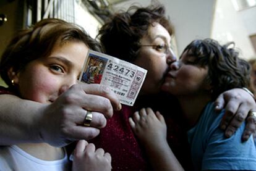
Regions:
<instances>
[{"instance_id":1,"label":"child's small hand resting on the woman's dark red sweater, without forearm","mask_svg":"<svg viewBox=\"0 0 256 171\"><path fill-rule=\"evenodd\" d=\"M142 143L159 143L166 141L166 123L160 112L151 108L142 108L129 118L130 127Z\"/></svg>"}]
</instances>

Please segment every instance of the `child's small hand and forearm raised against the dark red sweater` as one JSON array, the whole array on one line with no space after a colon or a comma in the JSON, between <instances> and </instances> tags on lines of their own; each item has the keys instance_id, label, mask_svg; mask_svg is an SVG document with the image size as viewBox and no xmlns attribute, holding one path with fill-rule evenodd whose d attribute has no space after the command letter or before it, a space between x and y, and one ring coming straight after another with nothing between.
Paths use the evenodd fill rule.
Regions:
<instances>
[{"instance_id":1,"label":"child's small hand and forearm raised against the dark red sweater","mask_svg":"<svg viewBox=\"0 0 256 171\"><path fill-rule=\"evenodd\" d=\"M174 156L166 140L166 124L163 116L150 109L135 112L129 119L135 135L143 144L153 170L184 170Z\"/></svg>"}]
</instances>

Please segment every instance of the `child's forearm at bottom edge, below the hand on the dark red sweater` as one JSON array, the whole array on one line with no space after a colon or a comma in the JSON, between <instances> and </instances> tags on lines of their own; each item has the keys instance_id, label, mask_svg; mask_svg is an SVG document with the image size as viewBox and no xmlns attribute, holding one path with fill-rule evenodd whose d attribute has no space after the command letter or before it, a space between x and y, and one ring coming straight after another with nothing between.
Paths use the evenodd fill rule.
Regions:
<instances>
[{"instance_id":1,"label":"child's forearm at bottom edge, below the hand on the dark red sweater","mask_svg":"<svg viewBox=\"0 0 256 171\"><path fill-rule=\"evenodd\" d=\"M166 141L156 146L146 144L145 148L153 170L184 170Z\"/></svg>"}]
</instances>

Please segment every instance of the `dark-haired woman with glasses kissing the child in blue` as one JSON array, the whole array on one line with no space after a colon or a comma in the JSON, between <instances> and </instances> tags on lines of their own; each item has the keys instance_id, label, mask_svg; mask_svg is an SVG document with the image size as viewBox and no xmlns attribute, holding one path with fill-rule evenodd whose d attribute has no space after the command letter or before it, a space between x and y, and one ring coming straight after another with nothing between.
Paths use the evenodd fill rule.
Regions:
<instances>
[{"instance_id":1,"label":"dark-haired woman with glasses kissing the child in blue","mask_svg":"<svg viewBox=\"0 0 256 171\"><path fill-rule=\"evenodd\" d=\"M92 140L96 146L106 149L111 154L113 170L150 170L151 168L145 157L144 149L140 146L141 142L135 138L129 125L129 117L142 107L153 107L154 110L157 109L164 114L168 125L169 145L181 164L186 166L187 170L191 170L189 145L184 131L186 124L185 126L179 124L182 119L178 115L180 111L177 101L161 93L161 86L168 73L168 64L176 61L176 56L170 48L172 35L173 28L164 17L162 6L132 7L127 12L114 15L100 29L99 38L106 54L148 70L135 106L123 105L122 111L114 113L106 127L101 130L100 135ZM237 93L244 97L244 99L239 98L242 102L240 109L233 105L239 103L233 99ZM235 112L236 110L232 109L234 107L238 110L237 112L242 110L247 115L250 109L255 109L254 99L242 89L231 90L224 96L225 99L229 97L228 99L234 100L228 102L227 111ZM244 103L246 99L251 100L252 106ZM220 108L223 106L222 103L219 105ZM173 112L167 113L164 107L168 107L168 110L171 107ZM237 117L234 117L233 124L234 122L238 122Z\"/></svg>"}]
</instances>

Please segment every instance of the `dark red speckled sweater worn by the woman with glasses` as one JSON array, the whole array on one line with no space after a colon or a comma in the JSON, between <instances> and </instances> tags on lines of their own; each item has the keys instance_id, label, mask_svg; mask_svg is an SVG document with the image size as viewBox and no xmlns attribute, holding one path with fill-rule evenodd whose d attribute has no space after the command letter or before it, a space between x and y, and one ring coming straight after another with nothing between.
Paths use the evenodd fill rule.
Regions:
<instances>
[{"instance_id":1,"label":"dark red speckled sweater worn by the woman with glasses","mask_svg":"<svg viewBox=\"0 0 256 171\"><path fill-rule=\"evenodd\" d=\"M157 107L155 106L159 106L160 102L161 106L164 105L164 99L153 99L155 104L151 104L152 101L148 102L149 99L147 98L147 101L137 101L137 106L135 107L122 105L122 111L114 112L113 117L108 119L106 127L101 129L100 135L90 141L90 143L95 144L96 148L103 148L111 154L113 170L151 170L143 145L135 138L128 120L134 114L134 111L141 107L153 107L156 109ZM181 114L175 109L177 104L170 105L171 101L168 104L169 112L172 111L173 115ZM186 132L184 131L186 128L182 128L182 125L174 122L173 116L166 114L164 109L158 111L164 115L168 125L169 146L171 146L182 166L190 170L190 151Z\"/></svg>"}]
</instances>

